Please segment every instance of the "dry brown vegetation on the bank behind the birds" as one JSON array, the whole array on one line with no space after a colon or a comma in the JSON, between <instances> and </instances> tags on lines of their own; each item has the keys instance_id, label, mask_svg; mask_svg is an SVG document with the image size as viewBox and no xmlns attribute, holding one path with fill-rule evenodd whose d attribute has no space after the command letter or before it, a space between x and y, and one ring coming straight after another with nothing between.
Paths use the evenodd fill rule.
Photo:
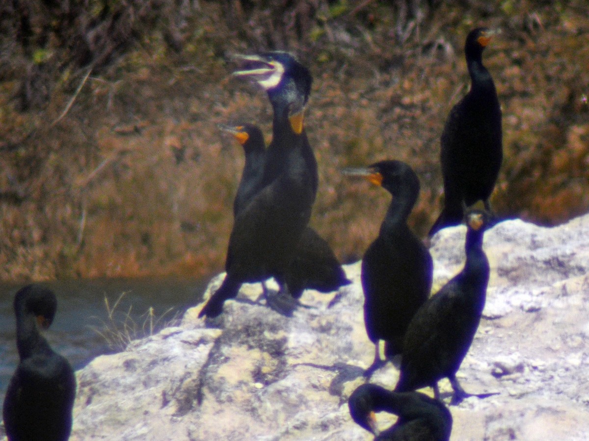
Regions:
<instances>
[{"instance_id":1,"label":"dry brown vegetation on the bank behind the birds","mask_svg":"<svg viewBox=\"0 0 589 441\"><path fill-rule=\"evenodd\" d=\"M79 3L74 8L72 5ZM503 107L493 203L544 224L589 208L584 0L16 0L0 6L0 279L209 275L224 262L243 165L218 122L270 133L234 52L288 49L313 72L307 132L320 170L312 225L342 260L375 236L389 195L343 166L402 159L439 212L439 135L485 51Z\"/></svg>"}]
</instances>

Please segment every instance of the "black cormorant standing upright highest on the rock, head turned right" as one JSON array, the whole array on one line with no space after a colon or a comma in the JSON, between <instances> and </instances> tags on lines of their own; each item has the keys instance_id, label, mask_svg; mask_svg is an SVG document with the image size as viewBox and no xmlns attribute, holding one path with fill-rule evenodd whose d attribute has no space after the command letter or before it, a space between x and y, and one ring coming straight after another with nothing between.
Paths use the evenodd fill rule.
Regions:
<instances>
[{"instance_id":1,"label":"black cormorant standing upright highest on the rock, head turned right","mask_svg":"<svg viewBox=\"0 0 589 441\"><path fill-rule=\"evenodd\" d=\"M471 89L450 111L441 138L440 159L444 177L444 209L429 236L446 226L458 225L464 209L489 198L503 158L501 106L491 74L482 64L482 51L492 31L477 28L466 36L464 52Z\"/></svg>"}]
</instances>

